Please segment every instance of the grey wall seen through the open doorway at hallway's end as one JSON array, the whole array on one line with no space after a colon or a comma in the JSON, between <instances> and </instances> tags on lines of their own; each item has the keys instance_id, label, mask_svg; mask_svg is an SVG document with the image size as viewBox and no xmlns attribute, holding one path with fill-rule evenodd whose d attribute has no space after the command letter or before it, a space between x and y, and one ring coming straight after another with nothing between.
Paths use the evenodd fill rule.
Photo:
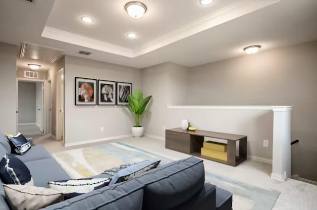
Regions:
<instances>
[{"instance_id":1,"label":"grey wall seen through the open doorway at hallway's end","mask_svg":"<svg viewBox=\"0 0 317 210\"><path fill-rule=\"evenodd\" d=\"M18 82L19 124L36 122L36 83Z\"/></svg>"}]
</instances>

